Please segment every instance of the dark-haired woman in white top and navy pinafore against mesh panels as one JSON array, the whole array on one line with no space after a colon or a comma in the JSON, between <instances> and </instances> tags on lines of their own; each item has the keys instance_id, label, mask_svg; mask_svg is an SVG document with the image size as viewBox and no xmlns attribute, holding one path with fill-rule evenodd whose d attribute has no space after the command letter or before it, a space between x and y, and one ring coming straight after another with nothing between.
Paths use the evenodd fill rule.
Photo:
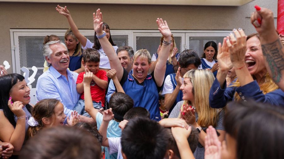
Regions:
<instances>
[{"instance_id":1,"label":"dark-haired woman in white top and navy pinafore against mesh panels","mask_svg":"<svg viewBox=\"0 0 284 159\"><path fill-rule=\"evenodd\" d=\"M216 61L217 54L217 44L214 41L209 41L204 45L200 68L210 69L214 74L214 77L216 77L217 71L219 69L218 62Z\"/></svg>"}]
</instances>

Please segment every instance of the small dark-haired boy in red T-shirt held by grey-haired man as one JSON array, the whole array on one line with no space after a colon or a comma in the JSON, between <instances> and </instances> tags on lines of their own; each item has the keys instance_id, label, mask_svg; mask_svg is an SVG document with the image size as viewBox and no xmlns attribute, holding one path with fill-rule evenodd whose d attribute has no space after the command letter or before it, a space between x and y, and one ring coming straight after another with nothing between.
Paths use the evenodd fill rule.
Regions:
<instances>
[{"instance_id":1,"label":"small dark-haired boy in red T-shirt held by grey-haired man","mask_svg":"<svg viewBox=\"0 0 284 159\"><path fill-rule=\"evenodd\" d=\"M93 101L93 106L96 109L104 107L105 104L105 89L108 85L107 73L106 71L99 70L100 66L100 53L95 49L86 49L83 52L83 65L85 66L85 72L81 72L77 78L77 92L81 94L80 100L76 104L73 110L76 110L80 115L89 116L86 111L84 111L84 86L83 86L83 76L86 72L92 72L93 77L90 83L91 96ZM90 117L90 116L89 116Z\"/></svg>"}]
</instances>

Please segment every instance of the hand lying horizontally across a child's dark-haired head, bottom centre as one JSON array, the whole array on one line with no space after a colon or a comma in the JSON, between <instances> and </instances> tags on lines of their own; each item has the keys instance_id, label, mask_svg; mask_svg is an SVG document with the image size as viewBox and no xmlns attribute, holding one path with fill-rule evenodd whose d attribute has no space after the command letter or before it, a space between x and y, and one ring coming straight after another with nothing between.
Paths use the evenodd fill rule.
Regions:
<instances>
[{"instance_id":1,"label":"hand lying horizontally across a child's dark-haired head, bottom centre","mask_svg":"<svg viewBox=\"0 0 284 159\"><path fill-rule=\"evenodd\" d=\"M165 119L160 120L159 124L165 128L178 126L181 128L188 129L189 127L186 121L180 118L165 118Z\"/></svg>"}]
</instances>

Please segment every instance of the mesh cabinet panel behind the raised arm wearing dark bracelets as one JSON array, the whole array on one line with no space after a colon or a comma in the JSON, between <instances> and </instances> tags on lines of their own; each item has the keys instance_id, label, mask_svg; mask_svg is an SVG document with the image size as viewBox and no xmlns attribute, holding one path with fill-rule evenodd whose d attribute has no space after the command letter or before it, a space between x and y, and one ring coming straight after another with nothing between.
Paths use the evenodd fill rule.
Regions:
<instances>
[{"instance_id":1,"label":"mesh cabinet panel behind the raised arm wearing dark bracelets","mask_svg":"<svg viewBox=\"0 0 284 159\"><path fill-rule=\"evenodd\" d=\"M174 37L175 45L178 48L178 53L182 49L182 37ZM161 36L137 36L136 37L136 51L141 49L147 49L151 56L157 53L157 49L160 45Z\"/></svg>"}]
</instances>

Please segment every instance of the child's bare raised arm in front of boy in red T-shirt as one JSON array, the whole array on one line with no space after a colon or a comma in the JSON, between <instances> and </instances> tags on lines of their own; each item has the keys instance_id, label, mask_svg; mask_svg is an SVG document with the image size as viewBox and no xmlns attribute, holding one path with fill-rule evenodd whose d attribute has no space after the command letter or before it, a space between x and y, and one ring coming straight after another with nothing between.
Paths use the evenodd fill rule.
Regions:
<instances>
[{"instance_id":1,"label":"child's bare raised arm in front of boy in red T-shirt","mask_svg":"<svg viewBox=\"0 0 284 159\"><path fill-rule=\"evenodd\" d=\"M83 84L84 84L84 98L85 98L85 110L96 122L96 115L98 111L93 106L91 90L90 90L90 82L92 81L93 73L86 72L84 74Z\"/></svg>"}]
</instances>

